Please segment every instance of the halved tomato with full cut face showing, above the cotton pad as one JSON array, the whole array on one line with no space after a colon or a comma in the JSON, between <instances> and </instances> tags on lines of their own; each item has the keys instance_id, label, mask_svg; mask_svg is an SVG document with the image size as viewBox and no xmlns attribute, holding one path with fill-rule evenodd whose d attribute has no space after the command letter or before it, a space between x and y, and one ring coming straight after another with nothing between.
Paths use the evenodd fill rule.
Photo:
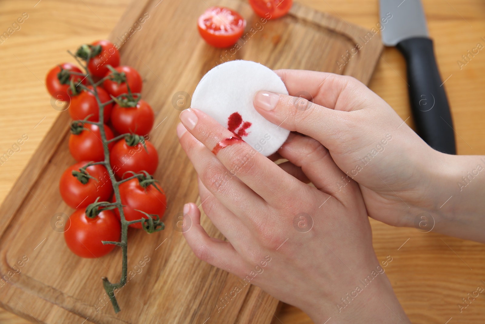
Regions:
<instances>
[{"instance_id":1,"label":"halved tomato with full cut face showing, above the cotton pad","mask_svg":"<svg viewBox=\"0 0 485 324\"><path fill-rule=\"evenodd\" d=\"M197 22L202 38L219 48L236 44L246 27L246 20L241 15L224 7L207 9Z\"/></svg>"}]
</instances>

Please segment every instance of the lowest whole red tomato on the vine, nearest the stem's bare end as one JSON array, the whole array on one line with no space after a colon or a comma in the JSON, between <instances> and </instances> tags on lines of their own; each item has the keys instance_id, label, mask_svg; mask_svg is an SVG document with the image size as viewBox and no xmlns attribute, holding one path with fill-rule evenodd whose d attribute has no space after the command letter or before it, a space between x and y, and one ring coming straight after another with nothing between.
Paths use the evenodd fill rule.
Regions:
<instances>
[{"instance_id":1,"label":"lowest whole red tomato on the vine, nearest the stem's bare end","mask_svg":"<svg viewBox=\"0 0 485 324\"><path fill-rule=\"evenodd\" d=\"M111 210L103 210L95 218L86 216L78 209L66 222L64 239L67 247L77 256L100 257L110 253L115 245L104 245L101 241L118 241L121 225Z\"/></svg>"}]
</instances>

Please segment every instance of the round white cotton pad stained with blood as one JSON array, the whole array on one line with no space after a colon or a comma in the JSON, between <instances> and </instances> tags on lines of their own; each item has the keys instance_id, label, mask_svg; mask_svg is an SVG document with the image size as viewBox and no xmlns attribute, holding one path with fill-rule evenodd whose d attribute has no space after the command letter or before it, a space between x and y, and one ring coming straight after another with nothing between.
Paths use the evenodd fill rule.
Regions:
<instances>
[{"instance_id":1,"label":"round white cotton pad stained with blood","mask_svg":"<svg viewBox=\"0 0 485 324\"><path fill-rule=\"evenodd\" d=\"M195 88L191 106L269 156L283 145L290 131L259 115L253 106L259 90L288 94L283 81L270 68L252 61L230 61L204 75Z\"/></svg>"}]
</instances>

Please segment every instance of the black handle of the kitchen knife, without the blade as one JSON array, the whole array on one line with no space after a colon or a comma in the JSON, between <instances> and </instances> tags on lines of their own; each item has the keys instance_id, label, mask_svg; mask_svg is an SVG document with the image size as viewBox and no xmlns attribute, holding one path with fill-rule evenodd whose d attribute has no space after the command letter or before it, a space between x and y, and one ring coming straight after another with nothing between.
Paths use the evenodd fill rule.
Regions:
<instances>
[{"instance_id":1,"label":"black handle of the kitchen knife, without the blade","mask_svg":"<svg viewBox=\"0 0 485 324\"><path fill-rule=\"evenodd\" d=\"M396 47L406 59L409 100L418 134L436 151L456 154L450 106L436 65L433 41L413 37Z\"/></svg>"}]
</instances>

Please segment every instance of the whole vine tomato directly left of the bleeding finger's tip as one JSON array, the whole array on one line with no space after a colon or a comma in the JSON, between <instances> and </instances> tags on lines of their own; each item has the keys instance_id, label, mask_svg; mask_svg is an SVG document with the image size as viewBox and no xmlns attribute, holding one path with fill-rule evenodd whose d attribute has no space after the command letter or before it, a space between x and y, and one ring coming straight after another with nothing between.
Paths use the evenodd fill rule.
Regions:
<instances>
[{"instance_id":1,"label":"whole vine tomato directly left of the bleeding finger's tip","mask_svg":"<svg viewBox=\"0 0 485 324\"><path fill-rule=\"evenodd\" d=\"M121 107L115 104L111 112L111 122L116 132L120 134L135 133L147 135L153 127L155 115L150 105L140 99L136 107Z\"/></svg>"}]
</instances>

